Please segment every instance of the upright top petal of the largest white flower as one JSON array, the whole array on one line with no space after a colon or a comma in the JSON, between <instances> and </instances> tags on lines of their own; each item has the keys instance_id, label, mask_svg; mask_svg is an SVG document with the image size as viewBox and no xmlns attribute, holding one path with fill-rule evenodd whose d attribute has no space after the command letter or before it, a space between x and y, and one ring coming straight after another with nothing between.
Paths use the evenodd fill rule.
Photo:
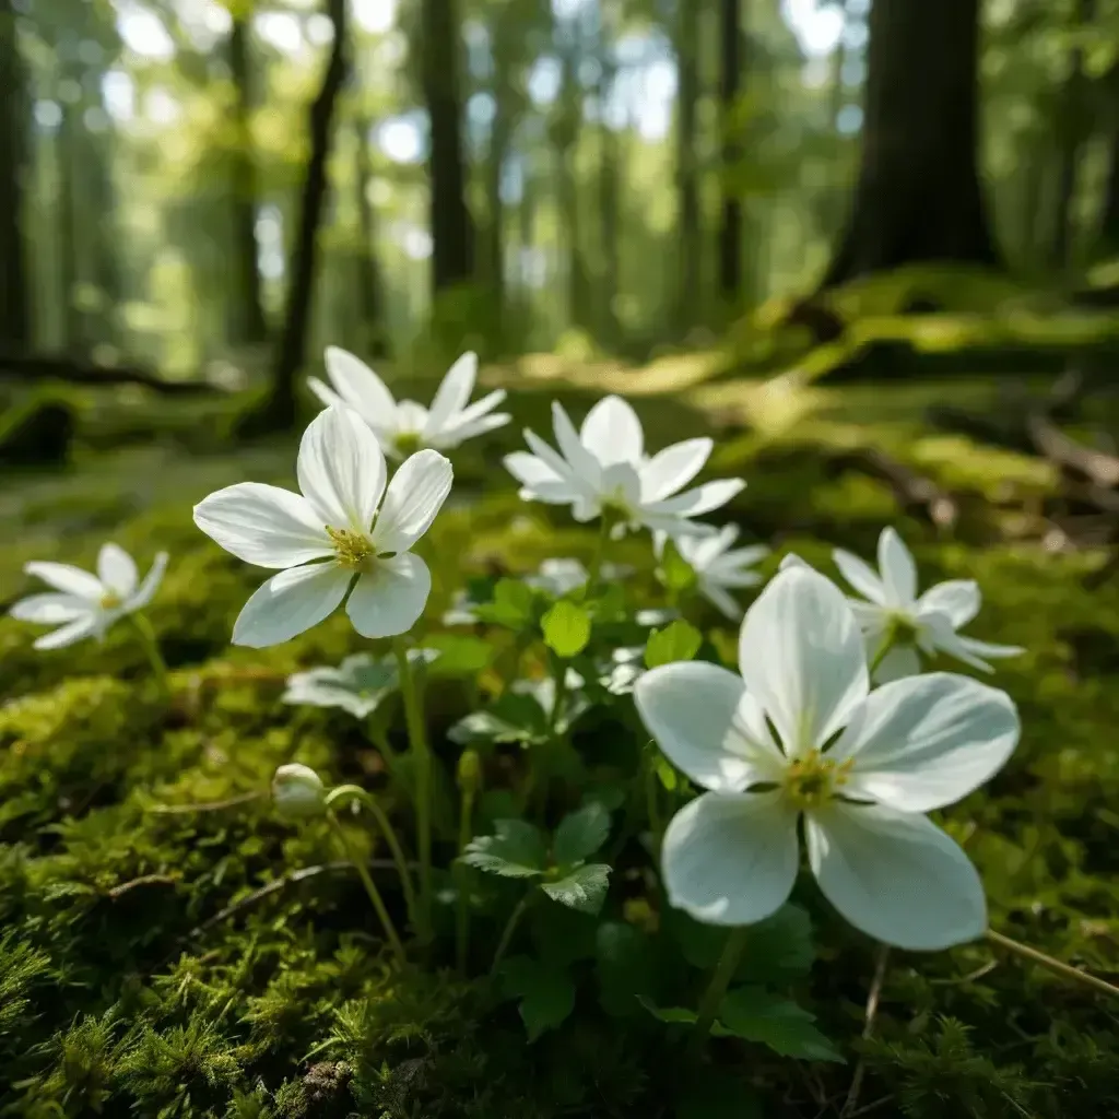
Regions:
<instances>
[{"instance_id":1,"label":"upright top petal of the largest white flower","mask_svg":"<svg viewBox=\"0 0 1119 1119\"><path fill-rule=\"evenodd\" d=\"M869 687L855 615L810 567L779 572L746 612L739 667L792 755L822 746Z\"/></svg>"}]
</instances>

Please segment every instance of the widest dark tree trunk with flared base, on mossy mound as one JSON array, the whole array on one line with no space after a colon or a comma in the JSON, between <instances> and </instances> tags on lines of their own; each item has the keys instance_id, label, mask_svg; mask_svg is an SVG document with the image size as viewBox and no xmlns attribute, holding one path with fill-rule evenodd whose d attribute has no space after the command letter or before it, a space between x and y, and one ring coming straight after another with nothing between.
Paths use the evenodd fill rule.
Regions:
<instances>
[{"instance_id":1,"label":"widest dark tree trunk with flared base, on mossy mound","mask_svg":"<svg viewBox=\"0 0 1119 1119\"><path fill-rule=\"evenodd\" d=\"M979 0L874 0L854 209L824 288L905 264L1000 264L979 186Z\"/></svg>"}]
</instances>

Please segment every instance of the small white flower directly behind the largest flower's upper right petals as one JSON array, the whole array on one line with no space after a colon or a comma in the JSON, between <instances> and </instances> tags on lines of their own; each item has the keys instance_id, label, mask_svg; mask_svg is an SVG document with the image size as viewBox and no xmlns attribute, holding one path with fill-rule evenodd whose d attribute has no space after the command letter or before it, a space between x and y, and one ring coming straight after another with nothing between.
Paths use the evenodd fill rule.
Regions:
<instances>
[{"instance_id":1,"label":"small white flower directly behind the largest flower's upper right petals","mask_svg":"<svg viewBox=\"0 0 1119 1119\"><path fill-rule=\"evenodd\" d=\"M916 564L893 528L878 537L878 571L858 556L837 548L833 553L843 577L866 601L852 600L869 655L892 642L875 671L876 680L900 679L921 670L920 652L946 652L982 671L993 671L985 658L1016 657L1023 650L989 645L956 631L979 612L979 586L972 580L938 583L920 598Z\"/></svg>"}]
</instances>

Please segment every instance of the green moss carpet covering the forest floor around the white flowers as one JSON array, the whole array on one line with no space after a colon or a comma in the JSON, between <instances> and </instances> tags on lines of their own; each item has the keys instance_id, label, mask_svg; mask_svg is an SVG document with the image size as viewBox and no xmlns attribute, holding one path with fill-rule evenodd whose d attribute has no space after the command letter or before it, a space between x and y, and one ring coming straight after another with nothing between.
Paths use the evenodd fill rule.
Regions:
<instances>
[{"instance_id":1,"label":"green moss carpet covering the forest floor around the white flowers","mask_svg":"<svg viewBox=\"0 0 1119 1119\"><path fill-rule=\"evenodd\" d=\"M699 389L638 399L650 443L703 430L699 405L725 412L746 401L749 413L749 386L718 388L717 399ZM580 408L581 393L568 395ZM518 421L546 429L547 398L521 396ZM893 523L923 581L979 581L975 634L1027 650L998 675L1021 708L1023 741L993 784L944 822L980 868L994 928L1115 978L1119 580L1089 589L1084 577L1102 556L1042 546L1031 526L1053 479L1037 462L946 443L921 429L902 391L893 406L884 398L875 394L872 423L867 401L844 395L728 439L717 469L750 481L734 515L749 536L821 564L835 545L869 552ZM517 501L498 471L517 441L516 430L504 433L459 469L455 507L427 548L435 630L463 570L528 571L546 555L590 552L589 536ZM888 446L953 490L968 510L955 535L901 518L884 485L830 470L828 453L852 441ZM673 1115L665 1101L689 1073L678 1040L639 1007L610 1016L581 988L576 1014L526 1045L515 1009L496 1004L485 982L442 966L393 970L327 828L274 818L263 792L282 762L377 787L379 759L360 726L337 711L279 702L286 673L336 662L359 642L335 619L274 650L228 647L262 573L203 537L190 506L246 478L290 485L293 449L203 457L197 445L191 455L180 440L164 443L87 449L69 474L6 483L0 498L3 603L31 589L20 568L32 557L88 565L106 538L141 563L171 553L150 617L175 685L167 699L126 626L104 647L36 653L28 627L0 621L0 1113ZM634 558L645 554L630 547ZM716 647L730 647L732 631L707 621ZM433 737L453 764L442 732L470 709L471 689L446 680L431 695ZM575 745L593 759L610 737L599 721ZM655 919L640 878L614 893L619 916ZM715 1093L677 1111L684 1119L838 1116L859 1062L864 1113L1119 1115L1116 1004L984 944L894 953L873 1035L861 1041L875 948L811 890L798 902L818 946L798 998L848 1064L720 1042L713 1057L742 1087L730 1102ZM496 933L478 930L479 951Z\"/></svg>"}]
</instances>

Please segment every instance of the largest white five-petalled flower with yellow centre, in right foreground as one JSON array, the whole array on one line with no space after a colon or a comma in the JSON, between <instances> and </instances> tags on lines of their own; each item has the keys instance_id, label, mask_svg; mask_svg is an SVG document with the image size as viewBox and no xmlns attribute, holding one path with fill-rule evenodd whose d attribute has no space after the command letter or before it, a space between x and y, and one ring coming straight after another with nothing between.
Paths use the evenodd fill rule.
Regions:
<instances>
[{"instance_id":1,"label":"largest white five-petalled flower with yellow centre, in right foreground","mask_svg":"<svg viewBox=\"0 0 1119 1119\"><path fill-rule=\"evenodd\" d=\"M924 814L1010 755L1018 716L1006 694L947 673L871 692L843 593L801 566L746 612L739 667L666 665L634 689L660 749L708 790L665 833L671 903L712 924L769 916L797 877L802 816L816 881L863 932L913 950L979 937L979 875Z\"/></svg>"}]
</instances>

